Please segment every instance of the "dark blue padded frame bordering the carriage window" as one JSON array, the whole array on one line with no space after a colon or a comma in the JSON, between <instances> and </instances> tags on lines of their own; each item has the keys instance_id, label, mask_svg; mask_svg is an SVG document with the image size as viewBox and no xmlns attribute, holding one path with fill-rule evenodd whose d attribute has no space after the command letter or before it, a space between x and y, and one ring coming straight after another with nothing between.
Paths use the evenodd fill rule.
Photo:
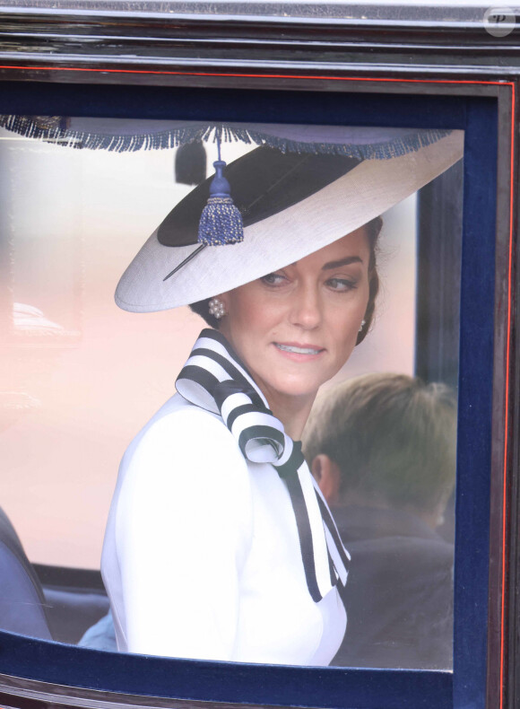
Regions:
<instances>
[{"instance_id":1,"label":"dark blue padded frame bordering the carriage window","mask_svg":"<svg viewBox=\"0 0 520 709\"><path fill-rule=\"evenodd\" d=\"M262 108L259 108L262 107ZM0 673L212 702L450 709L485 696L498 104L493 98L0 83L0 113L462 128L454 673L306 669L84 650L0 633Z\"/></svg>"}]
</instances>

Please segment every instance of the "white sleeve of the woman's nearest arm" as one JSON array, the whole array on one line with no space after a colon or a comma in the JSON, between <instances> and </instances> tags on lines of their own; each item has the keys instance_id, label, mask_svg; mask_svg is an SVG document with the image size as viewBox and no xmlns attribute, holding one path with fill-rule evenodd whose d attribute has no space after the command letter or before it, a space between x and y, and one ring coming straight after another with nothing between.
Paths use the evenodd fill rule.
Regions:
<instances>
[{"instance_id":1,"label":"white sleeve of the woman's nearest arm","mask_svg":"<svg viewBox=\"0 0 520 709\"><path fill-rule=\"evenodd\" d=\"M144 433L117 505L128 652L233 659L251 511L247 463L221 421L185 409Z\"/></svg>"}]
</instances>

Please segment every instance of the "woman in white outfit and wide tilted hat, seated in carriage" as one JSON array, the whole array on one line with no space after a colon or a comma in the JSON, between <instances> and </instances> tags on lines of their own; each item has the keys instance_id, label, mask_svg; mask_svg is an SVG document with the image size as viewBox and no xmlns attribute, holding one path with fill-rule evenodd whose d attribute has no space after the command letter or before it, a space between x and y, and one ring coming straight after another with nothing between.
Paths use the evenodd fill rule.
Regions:
<instances>
[{"instance_id":1,"label":"woman in white outfit and wide tilted hat, seated in carriage","mask_svg":"<svg viewBox=\"0 0 520 709\"><path fill-rule=\"evenodd\" d=\"M233 211L218 177L121 279L125 310L192 304L212 329L121 463L102 559L120 650L327 665L341 644L349 555L299 438L368 331L378 214L462 155L458 132L388 133L379 159L248 153L226 170L243 241L235 222L194 250L208 190Z\"/></svg>"}]
</instances>

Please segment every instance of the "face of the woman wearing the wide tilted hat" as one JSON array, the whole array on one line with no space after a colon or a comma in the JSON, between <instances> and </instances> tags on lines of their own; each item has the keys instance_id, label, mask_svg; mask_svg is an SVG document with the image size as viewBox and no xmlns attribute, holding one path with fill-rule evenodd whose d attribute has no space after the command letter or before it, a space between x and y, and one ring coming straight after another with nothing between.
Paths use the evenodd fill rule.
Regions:
<instances>
[{"instance_id":1,"label":"face of the woman wearing the wide tilted hat","mask_svg":"<svg viewBox=\"0 0 520 709\"><path fill-rule=\"evenodd\" d=\"M270 402L314 397L348 360L368 304L365 228L220 298L221 333Z\"/></svg>"}]
</instances>

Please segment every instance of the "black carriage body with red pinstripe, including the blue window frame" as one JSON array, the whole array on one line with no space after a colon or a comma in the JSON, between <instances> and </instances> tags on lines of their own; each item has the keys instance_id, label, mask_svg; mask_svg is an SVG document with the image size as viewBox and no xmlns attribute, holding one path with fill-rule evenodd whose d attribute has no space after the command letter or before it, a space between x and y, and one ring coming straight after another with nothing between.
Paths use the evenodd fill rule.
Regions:
<instances>
[{"instance_id":1,"label":"black carriage body with red pinstripe, including the blue window frame","mask_svg":"<svg viewBox=\"0 0 520 709\"><path fill-rule=\"evenodd\" d=\"M484 24L487 9L4 0L0 114L456 128L465 131L465 147L460 293L446 287L446 302L438 304L432 284L439 274L456 280L458 261L449 249L436 255L428 240L420 241L428 267L420 272L415 352L416 372L428 381L451 381L457 361L460 367L453 674L115 654L108 661L102 652L0 634L1 704L513 709L520 703L520 12L516 26L497 37ZM450 191L447 183L437 189ZM424 217L420 229L449 231L443 218ZM1 238L0 256L10 258ZM432 354L438 343L421 326L421 313L442 319L459 298L460 350L446 365L446 357ZM45 584L52 570L37 571Z\"/></svg>"}]
</instances>

